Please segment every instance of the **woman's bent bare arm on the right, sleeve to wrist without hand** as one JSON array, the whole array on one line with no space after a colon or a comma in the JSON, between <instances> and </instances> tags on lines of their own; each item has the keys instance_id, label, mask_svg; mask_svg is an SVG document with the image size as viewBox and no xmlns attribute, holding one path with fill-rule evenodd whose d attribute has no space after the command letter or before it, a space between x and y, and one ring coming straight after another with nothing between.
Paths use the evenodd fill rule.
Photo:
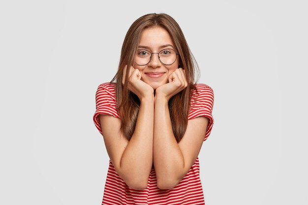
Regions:
<instances>
[{"instance_id":1,"label":"woman's bent bare arm on the right, sleeve to wrist without hand","mask_svg":"<svg viewBox=\"0 0 308 205\"><path fill-rule=\"evenodd\" d=\"M185 135L178 144L171 127L168 101L155 97L153 157L158 188L171 189L187 174L200 152L207 124L206 117L188 120Z\"/></svg>"}]
</instances>

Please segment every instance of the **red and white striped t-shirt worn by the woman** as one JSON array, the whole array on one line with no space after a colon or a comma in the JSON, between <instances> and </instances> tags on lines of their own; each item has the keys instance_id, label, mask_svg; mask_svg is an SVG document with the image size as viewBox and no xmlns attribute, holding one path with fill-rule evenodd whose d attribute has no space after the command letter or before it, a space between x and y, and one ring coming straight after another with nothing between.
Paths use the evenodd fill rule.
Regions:
<instances>
[{"instance_id":1,"label":"red and white striped t-shirt worn by the woman","mask_svg":"<svg viewBox=\"0 0 308 205\"><path fill-rule=\"evenodd\" d=\"M197 84L192 92L191 107L188 120L195 117L208 117L204 141L209 137L214 119L212 109L214 104L213 89L205 84ZM96 91L96 111L94 124L101 132L99 115L119 117L116 107L116 84L103 83ZM204 205L204 196L200 180L199 159L197 157L188 173L172 189L159 189L156 183L155 170L152 168L148 186L144 190L135 190L125 184L109 160L109 169L105 183L102 205Z\"/></svg>"}]
</instances>

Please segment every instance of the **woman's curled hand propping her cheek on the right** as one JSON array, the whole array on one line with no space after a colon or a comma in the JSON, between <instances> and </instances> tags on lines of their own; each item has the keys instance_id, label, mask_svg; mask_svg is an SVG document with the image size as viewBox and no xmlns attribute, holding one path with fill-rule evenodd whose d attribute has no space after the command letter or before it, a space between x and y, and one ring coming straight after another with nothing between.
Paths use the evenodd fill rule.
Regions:
<instances>
[{"instance_id":1,"label":"woman's curled hand propping her cheek on the right","mask_svg":"<svg viewBox=\"0 0 308 205\"><path fill-rule=\"evenodd\" d=\"M183 68L176 69L168 78L169 83L159 86L155 90L155 96L162 95L168 101L169 99L187 87L185 70Z\"/></svg>"}]
</instances>

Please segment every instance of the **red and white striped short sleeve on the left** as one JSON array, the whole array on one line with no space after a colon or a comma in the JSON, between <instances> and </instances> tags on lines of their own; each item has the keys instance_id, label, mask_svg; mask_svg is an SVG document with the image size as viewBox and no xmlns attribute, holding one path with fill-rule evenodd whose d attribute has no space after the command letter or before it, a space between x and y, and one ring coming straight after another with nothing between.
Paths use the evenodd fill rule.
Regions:
<instances>
[{"instance_id":1,"label":"red and white striped short sleeve on the left","mask_svg":"<svg viewBox=\"0 0 308 205\"><path fill-rule=\"evenodd\" d=\"M101 125L99 120L99 115L111 115L113 117L119 117L119 113L116 106L116 85L114 83L104 83L98 86L95 101L96 101L96 110L93 116L93 121L100 132Z\"/></svg>"}]
</instances>

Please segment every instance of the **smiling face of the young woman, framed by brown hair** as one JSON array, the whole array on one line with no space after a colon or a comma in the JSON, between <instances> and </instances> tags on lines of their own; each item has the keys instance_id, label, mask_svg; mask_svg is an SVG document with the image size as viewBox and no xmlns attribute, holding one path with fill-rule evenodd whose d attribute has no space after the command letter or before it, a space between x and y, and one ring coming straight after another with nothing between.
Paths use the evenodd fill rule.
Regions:
<instances>
[{"instance_id":1,"label":"smiling face of the young woman, framed by brown hair","mask_svg":"<svg viewBox=\"0 0 308 205\"><path fill-rule=\"evenodd\" d=\"M168 83L168 77L179 67L179 55L172 58L171 56L175 55L171 54L172 52L178 53L167 30L161 27L144 29L135 54L134 63L134 68L140 70L142 74L141 80L154 89ZM161 61L165 64L159 60L158 54L152 54L150 60L151 53L159 53ZM147 59L150 62L143 65L148 62Z\"/></svg>"}]
</instances>

